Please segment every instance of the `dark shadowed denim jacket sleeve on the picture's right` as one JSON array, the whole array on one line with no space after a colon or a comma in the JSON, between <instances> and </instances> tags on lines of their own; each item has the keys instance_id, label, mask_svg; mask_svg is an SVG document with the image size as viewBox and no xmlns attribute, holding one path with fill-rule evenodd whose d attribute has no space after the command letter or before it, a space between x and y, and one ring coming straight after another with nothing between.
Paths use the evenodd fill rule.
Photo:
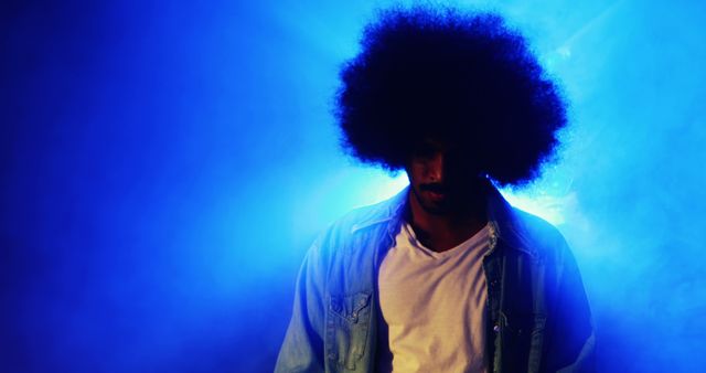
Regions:
<instances>
[{"instance_id":1,"label":"dark shadowed denim jacket sleeve on the picture's right","mask_svg":"<svg viewBox=\"0 0 706 373\"><path fill-rule=\"evenodd\" d=\"M563 241L563 239L561 239ZM595 372L593 323L576 259L565 242L559 255L554 315L548 319L543 372Z\"/></svg>"}]
</instances>

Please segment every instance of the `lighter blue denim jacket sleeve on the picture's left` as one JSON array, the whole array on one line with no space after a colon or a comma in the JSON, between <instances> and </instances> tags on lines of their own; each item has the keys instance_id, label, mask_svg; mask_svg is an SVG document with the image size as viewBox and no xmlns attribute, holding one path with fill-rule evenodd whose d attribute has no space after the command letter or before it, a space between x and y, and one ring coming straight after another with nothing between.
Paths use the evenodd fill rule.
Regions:
<instances>
[{"instance_id":1,"label":"lighter blue denim jacket sleeve on the picture's left","mask_svg":"<svg viewBox=\"0 0 706 373\"><path fill-rule=\"evenodd\" d=\"M291 320L275 372L323 372L323 276L317 244L309 249L297 277Z\"/></svg>"}]
</instances>

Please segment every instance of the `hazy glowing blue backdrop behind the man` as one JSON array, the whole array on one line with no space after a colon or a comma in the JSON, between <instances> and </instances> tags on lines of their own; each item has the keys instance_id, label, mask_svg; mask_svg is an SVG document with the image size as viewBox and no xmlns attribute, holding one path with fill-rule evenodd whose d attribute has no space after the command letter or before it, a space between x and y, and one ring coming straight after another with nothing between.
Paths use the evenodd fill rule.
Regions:
<instances>
[{"instance_id":1,"label":"hazy glowing blue backdrop behind the man","mask_svg":"<svg viewBox=\"0 0 706 373\"><path fill-rule=\"evenodd\" d=\"M318 232L405 175L338 149L388 1L0 6L0 372L267 372ZM454 3L454 2L451 2ZM521 207L561 230L600 372L706 364L706 4L495 9L571 102Z\"/></svg>"}]
</instances>

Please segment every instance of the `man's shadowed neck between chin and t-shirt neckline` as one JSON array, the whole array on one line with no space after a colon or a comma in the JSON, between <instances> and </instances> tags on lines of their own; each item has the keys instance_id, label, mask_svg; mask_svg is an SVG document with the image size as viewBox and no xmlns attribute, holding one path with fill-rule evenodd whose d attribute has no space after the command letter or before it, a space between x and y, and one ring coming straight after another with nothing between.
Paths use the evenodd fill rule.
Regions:
<instances>
[{"instance_id":1,"label":"man's shadowed neck between chin and t-shirt neckline","mask_svg":"<svg viewBox=\"0 0 706 373\"><path fill-rule=\"evenodd\" d=\"M469 201L464 209L445 214L426 211L410 192L407 221L419 242L435 252L453 248L475 235L488 224L485 195Z\"/></svg>"}]
</instances>

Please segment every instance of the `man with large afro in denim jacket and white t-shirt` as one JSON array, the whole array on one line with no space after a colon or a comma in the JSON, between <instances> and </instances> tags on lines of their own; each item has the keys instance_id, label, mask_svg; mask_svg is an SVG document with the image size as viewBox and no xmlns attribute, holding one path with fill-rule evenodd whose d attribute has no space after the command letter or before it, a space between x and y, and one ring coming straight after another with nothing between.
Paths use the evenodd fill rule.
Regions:
<instances>
[{"instance_id":1,"label":"man with large afro in denim jacket and white t-shirt","mask_svg":"<svg viewBox=\"0 0 706 373\"><path fill-rule=\"evenodd\" d=\"M566 124L524 39L494 14L388 10L341 79L345 148L409 188L315 241L276 371L590 371L571 253L494 186L534 179Z\"/></svg>"}]
</instances>

